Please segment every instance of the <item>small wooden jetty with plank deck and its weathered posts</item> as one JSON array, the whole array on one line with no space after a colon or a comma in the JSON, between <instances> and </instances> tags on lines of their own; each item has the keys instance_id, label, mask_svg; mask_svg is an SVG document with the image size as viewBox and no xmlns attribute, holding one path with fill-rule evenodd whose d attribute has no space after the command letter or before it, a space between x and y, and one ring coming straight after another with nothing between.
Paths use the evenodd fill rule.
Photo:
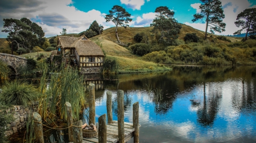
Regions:
<instances>
[{"instance_id":1,"label":"small wooden jetty with plank deck and its weathered posts","mask_svg":"<svg viewBox=\"0 0 256 143\"><path fill-rule=\"evenodd\" d=\"M66 102L67 109L67 123L69 143L111 143L119 142L124 143L134 138L134 143L139 142L139 102L133 104L133 123L124 122L124 108L123 108L123 90L117 91L117 107L118 107L118 121L113 120L112 115L112 92L107 92L107 116L108 124L106 124L106 114L98 118L98 129L93 131L93 136L89 138L88 130L82 129L82 120L73 123L72 107L69 102ZM38 143L44 143L43 128L41 116L34 112L35 122L35 139ZM36 124L38 123L38 124ZM95 85L89 84L89 124L95 125ZM85 134L84 134L85 133ZM83 136L83 134L85 136ZM95 136L95 137L94 137Z\"/></svg>"}]
</instances>

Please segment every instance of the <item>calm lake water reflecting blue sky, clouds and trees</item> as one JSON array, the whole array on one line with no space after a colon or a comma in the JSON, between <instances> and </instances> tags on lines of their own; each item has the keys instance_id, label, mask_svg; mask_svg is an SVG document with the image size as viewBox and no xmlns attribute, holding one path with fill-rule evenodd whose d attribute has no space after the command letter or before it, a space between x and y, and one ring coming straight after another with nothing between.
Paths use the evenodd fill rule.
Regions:
<instances>
[{"instance_id":1,"label":"calm lake water reflecting blue sky, clouds and trees","mask_svg":"<svg viewBox=\"0 0 256 143\"><path fill-rule=\"evenodd\" d=\"M162 89L156 102L148 86ZM140 142L256 142L256 67L174 67L172 71L118 75L96 92L96 122L106 114L106 92L125 92L125 122L139 102ZM133 142L133 140L130 140Z\"/></svg>"}]
</instances>

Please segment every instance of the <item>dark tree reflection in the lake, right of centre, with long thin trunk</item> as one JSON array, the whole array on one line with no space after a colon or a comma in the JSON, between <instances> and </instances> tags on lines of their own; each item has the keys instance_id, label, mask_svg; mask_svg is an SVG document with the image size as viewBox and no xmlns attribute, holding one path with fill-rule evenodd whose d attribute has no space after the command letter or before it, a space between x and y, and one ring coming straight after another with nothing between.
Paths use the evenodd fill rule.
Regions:
<instances>
[{"instance_id":1,"label":"dark tree reflection in the lake, right of centre, with long thin trunk","mask_svg":"<svg viewBox=\"0 0 256 143\"><path fill-rule=\"evenodd\" d=\"M197 111L197 121L206 126L206 125L212 125L217 112L218 112L218 106L220 105L221 97L222 97L222 89L221 87L211 87L209 85L209 93L208 93L208 99L206 98L206 87L204 83L204 100L203 100L203 106L200 107L200 109Z\"/></svg>"}]
</instances>

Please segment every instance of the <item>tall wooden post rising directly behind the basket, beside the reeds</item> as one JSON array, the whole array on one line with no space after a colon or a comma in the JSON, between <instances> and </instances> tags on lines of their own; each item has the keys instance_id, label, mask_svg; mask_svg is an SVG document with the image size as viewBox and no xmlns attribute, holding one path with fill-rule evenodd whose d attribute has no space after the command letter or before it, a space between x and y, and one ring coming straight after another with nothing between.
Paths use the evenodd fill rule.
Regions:
<instances>
[{"instance_id":1,"label":"tall wooden post rising directly behind the basket, beside the reeds","mask_svg":"<svg viewBox=\"0 0 256 143\"><path fill-rule=\"evenodd\" d=\"M89 84L89 124L95 125L95 85Z\"/></svg>"}]
</instances>

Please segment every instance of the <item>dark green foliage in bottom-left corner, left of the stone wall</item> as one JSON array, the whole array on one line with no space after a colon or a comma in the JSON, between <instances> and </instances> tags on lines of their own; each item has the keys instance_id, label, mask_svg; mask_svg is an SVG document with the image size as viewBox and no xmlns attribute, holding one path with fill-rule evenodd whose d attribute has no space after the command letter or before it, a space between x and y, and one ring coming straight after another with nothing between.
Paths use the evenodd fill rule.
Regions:
<instances>
[{"instance_id":1,"label":"dark green foliage in bottom-left corner, left of the stone wall","mask_svg":"<svg viewBox=\"0 0 256 143\"><path fill-rule=\"evenodd\" d=\"M1 94L0 94L1 95ZM2 100L0 101L0 142L7 143L8 138L5 132L9 130L8 124L14 121L13 115L6 113L6 109L10 109L10 105L6 105Z\"/></svg>"}]
</instances>

